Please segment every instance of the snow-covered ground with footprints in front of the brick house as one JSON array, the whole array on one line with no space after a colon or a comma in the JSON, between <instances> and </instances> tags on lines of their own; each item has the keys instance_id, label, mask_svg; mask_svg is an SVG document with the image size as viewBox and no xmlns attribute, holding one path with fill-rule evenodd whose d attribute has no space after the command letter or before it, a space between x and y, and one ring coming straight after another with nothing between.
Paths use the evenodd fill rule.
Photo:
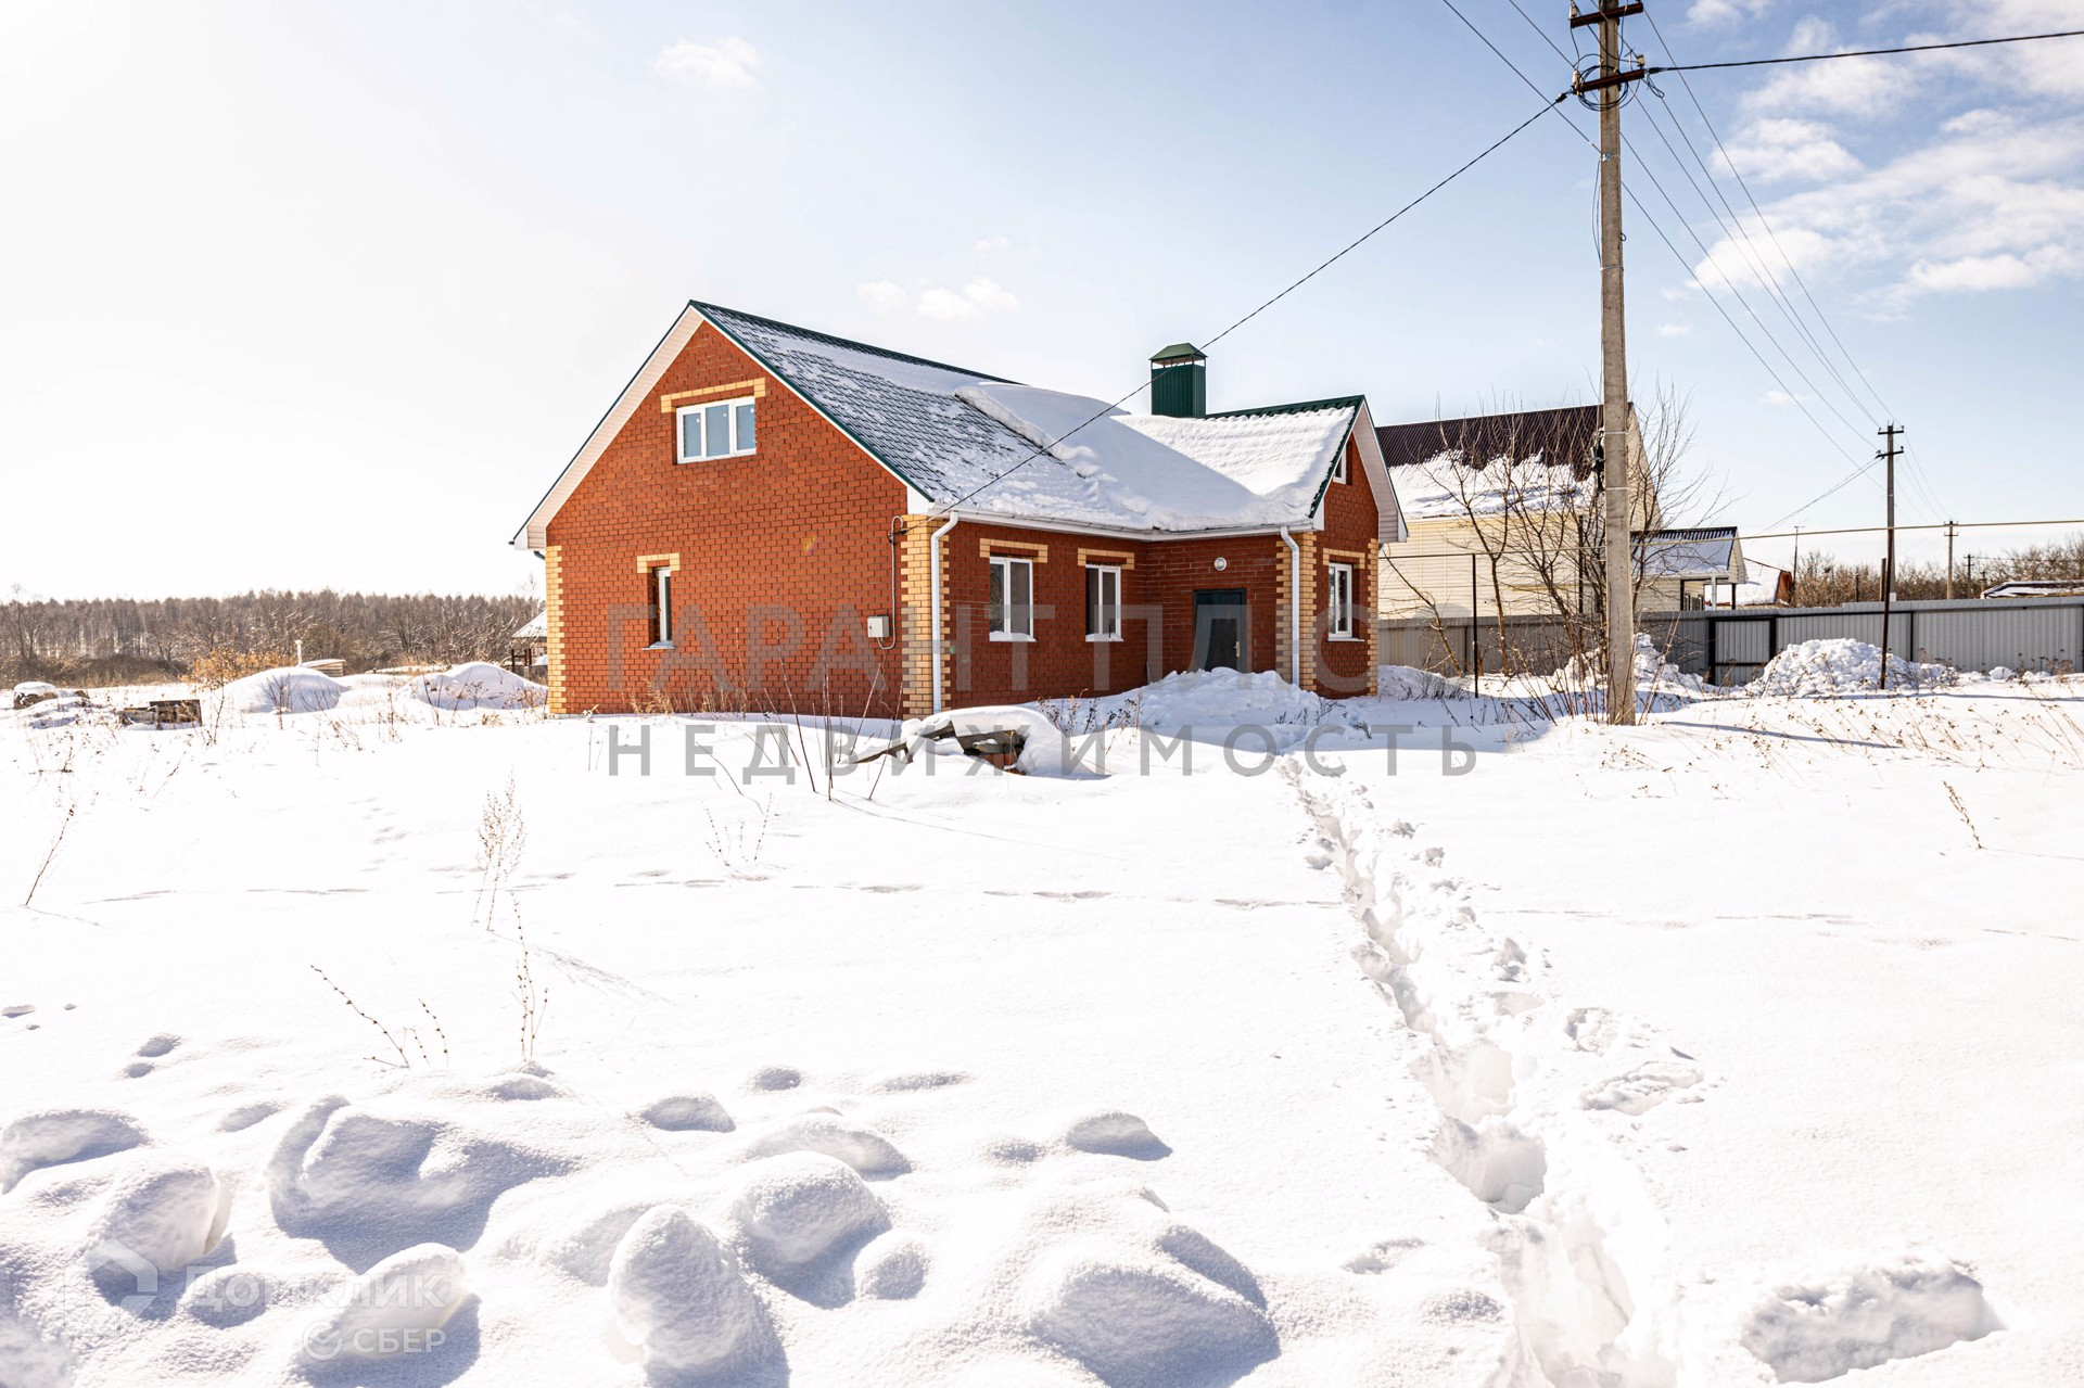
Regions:
<instances>
[{"instance_id":1,"label":"snow-covered ground with footprints in front of the brick house","mask_svg":"<svg viewBox=\"0 0 2084 1388\"><path fill-rule=\"evenodd\" d=\"M6 1388L2084 1382L2084 684L456 675L0 715Z\"/></svg>"}]
</instances>

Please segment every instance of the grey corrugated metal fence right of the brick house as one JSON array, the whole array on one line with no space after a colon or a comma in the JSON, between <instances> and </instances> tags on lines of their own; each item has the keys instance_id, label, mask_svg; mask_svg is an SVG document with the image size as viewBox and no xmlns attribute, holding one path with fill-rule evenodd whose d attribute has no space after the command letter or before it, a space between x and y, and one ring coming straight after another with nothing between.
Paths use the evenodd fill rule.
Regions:
<instances>
[{"instance_id":1,"label":"grey corrugated metal fence right of the brick house","mask_svg":"<svg viewBox=\"0 0 2084 1388\"><path fill-rule=\"evenodd\" d=\"M1555 617L1405 617L1382 623L1384 665L1436 671L1550 671L1569 659L1567 627ZM1778 652L1809 640L1882 640L1882 604L1761 606L1738 611L1648 613L1642 629L1665 659L1711 684L1755 679ZM1957 598L1896 602L1888 621L1890 652L1955 669L2084 669L2084 600Z\"/></svg>"}]
</instances>

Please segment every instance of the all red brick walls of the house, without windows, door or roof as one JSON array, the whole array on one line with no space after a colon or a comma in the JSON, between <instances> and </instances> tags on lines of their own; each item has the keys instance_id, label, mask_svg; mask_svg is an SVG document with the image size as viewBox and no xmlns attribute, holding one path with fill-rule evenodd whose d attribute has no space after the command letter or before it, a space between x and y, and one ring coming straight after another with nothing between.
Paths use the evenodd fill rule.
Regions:
<instances>
[{"instance_id":1,"label":"all red brick walls of the house, without windows, door or roof","mask_svg":"<svg viewBox=\"0 0 2084 1388\"><path fill-rule=\"evenodd\" d=\"M759 450L677 463L673 396L756 394ZM1348 446L1350 450L1350 446ZM548 525L550 709L932 709L929 536L904 486L704 325ZM890 544L892 523L902 527ZM1305 684L1359 694L1373 673L1375 506L1359 456L1305 548ZM1280 536L1102 540L959 523L942 544L948 707L1117 694L1194 661L1194 592L1244 590L1250 669L1290 671ZM1036 640L988 634L990 554L1034 559ZM1323 565L1355 565L1367 640L1321 640ZM1215 561L1223 561L1223 569ZM1086 640L1086 563L1121 567L1123 640ZM652 648L652 569L673 569L675 644ZM1155 609L1155 613L1152 613ZM867 638L888 615L892 636Z\"/></svg>"}]
</instances>

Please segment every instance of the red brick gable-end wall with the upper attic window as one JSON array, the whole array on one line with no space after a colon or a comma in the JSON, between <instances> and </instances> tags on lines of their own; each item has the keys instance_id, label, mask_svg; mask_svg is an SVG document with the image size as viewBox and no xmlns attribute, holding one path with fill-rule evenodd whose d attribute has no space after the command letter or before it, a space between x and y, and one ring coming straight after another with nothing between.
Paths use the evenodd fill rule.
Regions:
<instances>
[{"instance_id":1,"label":"red brick gable-end wall with the upper attic window","mask_svg":"<svg viewBox=\"0 0 2084 1388\"><path fill-rule=\"evenodd\" d=\"M759 450L677 463L663 396L759 390ZM723 392L715 398L740 394ZM890 521L904 486L704 325L548 525L550 707L894 715ZM673 650L652 650L638 563L677 556Z\"/></svg>"}]
</instances>

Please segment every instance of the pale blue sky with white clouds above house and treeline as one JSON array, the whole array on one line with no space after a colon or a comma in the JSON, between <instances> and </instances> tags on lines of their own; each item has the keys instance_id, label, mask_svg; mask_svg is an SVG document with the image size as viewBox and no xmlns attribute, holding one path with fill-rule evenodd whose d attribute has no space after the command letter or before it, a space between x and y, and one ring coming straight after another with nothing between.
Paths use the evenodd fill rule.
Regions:
<instances>
[{"instance_id":1,"label":"pale blue sky with white clouds above house and treeline","mask_svg":"<svg viewBox=\"0 0 2084 1388\"><path fill-rule=\"evenodd\" d=\"M1565 85L1509 0L1457 2ZM1561 0L1521 4L1571 46ZM1651 4L1690 63L2084 27L2084 0ZM1703 519L1759 531L1878 444L1659 142L1715 160L1661 85L1632 185L1715 292L1630 206L1632 369L1690 396ZM2084 40L1692 90L1911 429L1899 519L2084 517ZM1536 104L1432 0L10 6L0 590L523 588L506 536L690 296L1113 398ZM1215 348L1211 406L1588 402L1596 296L1592 156L1548 117ZM1863 479L1801 521L1880 515Z\"/></svg>"}]
</instances>

